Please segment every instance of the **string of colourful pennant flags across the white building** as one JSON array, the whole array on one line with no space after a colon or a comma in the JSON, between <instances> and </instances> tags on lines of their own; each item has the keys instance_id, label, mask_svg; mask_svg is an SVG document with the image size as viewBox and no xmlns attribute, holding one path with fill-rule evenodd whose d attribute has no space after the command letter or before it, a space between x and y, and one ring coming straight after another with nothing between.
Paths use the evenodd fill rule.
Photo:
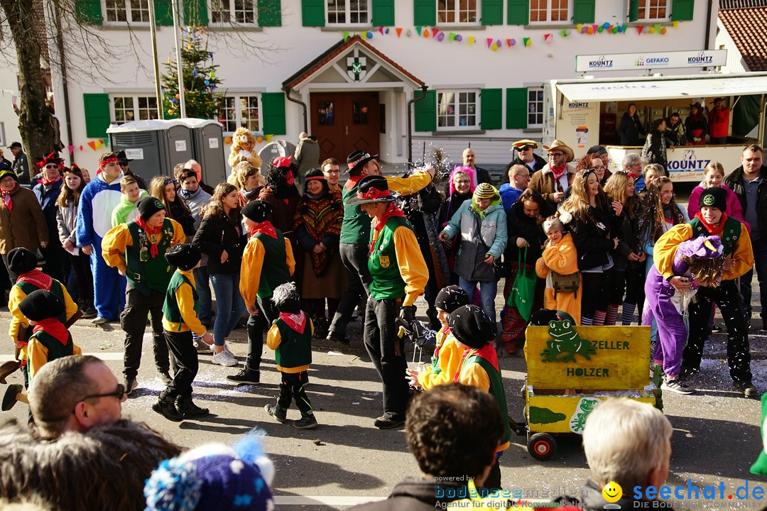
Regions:
<instances>
[{"instance_id":1,"label":"string of colourful pennant flags across the white building","mask_svg":"<svg viewBox=\"0 0 767 511\"><path fill-rule=\"evenodd\" d=\"M673 25L673 28L676 30L679 28L679 21L672 21L671 24ZM574 31L571 28L564 28L561 31L558 32L558 34L566 38L569 35L575 33L575 34L584 34L584 35L594 35L594 34L627 34L631 28L634 28L637 31L637 35L641 34L658 34L658 35L665 35L668 31L667 26L656 24L656 25L617 25L617 24L611 24L608 21L605 21L601 25L598 25L596 23L593 24L578 24L575 26ZM413 29L415 30L415 33L413 33ZM396 35L397 38L402 38L403 36L406 38L412 38L413 35L419 38L425 38L425 39L432 39L434 41L437 41L439 43L448 42L448 43L466 43L469 44L469 46L473 46L474 44L479 43L482 41L482 39L485 40L485 43L487 45L487 49L492 51L498 51L500 48L504 47L514 47L518 44L523 47L529 47L532 46L533 38L476 38L473 35L469 35L468 37L464 37L463 34L459 34L458 32L452 32L452 31L442 31L439 30L439 28L429 28L429 27L413 27L413 29L410 28L403 28L403 27L378 27L375 31L362 31L362 32L351 32L351 31L344 31L343 37L344 41L346 41L348 38L353 37L354 35L359 35L360 38L363 39L372 39L375 37L381 37L381 36L390 36ZM378 32L377 35L375 32ZM551 44L551 42L554 41L554 33L546 33L542 34L542 41L544 44ZM482 46L481 44L478 44L478 46Z\"/></svg>"}]
</instances>

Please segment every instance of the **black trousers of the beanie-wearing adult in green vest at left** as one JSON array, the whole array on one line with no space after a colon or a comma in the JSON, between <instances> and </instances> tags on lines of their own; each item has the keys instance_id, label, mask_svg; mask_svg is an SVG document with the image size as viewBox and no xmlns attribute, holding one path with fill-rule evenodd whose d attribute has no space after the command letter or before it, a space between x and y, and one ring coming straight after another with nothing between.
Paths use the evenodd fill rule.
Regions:
<instances>
[{"instance_id":1,"label":"black trousers of the beanie-wearing adult in green vest at left","mask_svg":"<svg viewBox=\"0 0 767 511\"><path fill-rule=\"evenodd\" d=\"M141 346L143 332L146 329L146 315L151 316L154 365L157 372L168 372L168 343L163 336L163 301L165 293L151 290L149 295L128 287L125 292L125 309L120 314L120 326L125 332L125 369L126 378L136 378L141 365Z\"/></svg>"}]
</instances>

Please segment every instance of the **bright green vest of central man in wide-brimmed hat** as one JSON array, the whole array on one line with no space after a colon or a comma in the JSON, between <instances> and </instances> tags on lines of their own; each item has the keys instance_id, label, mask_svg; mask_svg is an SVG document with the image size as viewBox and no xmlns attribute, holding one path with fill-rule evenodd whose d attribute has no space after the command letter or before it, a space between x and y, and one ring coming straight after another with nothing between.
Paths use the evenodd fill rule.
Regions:
<instances>
[{"instance_id":1,"label":"bright green vest of central man in wide-brimmed hat","mask_svg":"<svg viewBox=\"0 0 767 511\"><path fill-rule=\"evenodd\" d=\"M405 297L405 281L402 280L400 267L397 265L397 251L394 250L394 231L400 226L413 230L407 218L391 217L381 229L370 251L367 269L373 277L370 294L374 300Z\"/></svg>"}]
</instances>

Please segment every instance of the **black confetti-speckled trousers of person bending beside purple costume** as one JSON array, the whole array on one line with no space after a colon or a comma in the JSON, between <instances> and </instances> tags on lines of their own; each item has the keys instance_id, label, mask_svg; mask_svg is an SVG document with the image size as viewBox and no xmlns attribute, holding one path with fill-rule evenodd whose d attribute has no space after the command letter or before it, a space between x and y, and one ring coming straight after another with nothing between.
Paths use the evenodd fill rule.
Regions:
<instances>
[{"instance_id":1,"label":"black confetti-speckled trousers of person bending beside purple costume","mask_svg":"<svg viewBox=\"0 0 767 511\"><path fill-rule=\"evenodd\" d=\"M719 287L701 287L690 303L690 336L682 353L682 365L700 369L703 343L711 317L711 304L722 311L727 327L727 363L733 382L751 382L751 352L743 304L735 280L724 280Z\"/></svg>"}]
</instances>

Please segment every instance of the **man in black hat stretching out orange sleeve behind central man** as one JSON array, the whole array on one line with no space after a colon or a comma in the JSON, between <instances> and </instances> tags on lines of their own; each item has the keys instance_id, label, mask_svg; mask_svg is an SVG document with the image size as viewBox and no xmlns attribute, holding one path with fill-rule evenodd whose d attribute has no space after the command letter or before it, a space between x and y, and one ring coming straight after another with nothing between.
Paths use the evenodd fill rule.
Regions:
<instances>
[{"instance_id":1,"label":"man in black hat stretching out orange sleeve behind central man","mask_svg":"<svg viewBox=\"0 0 767 511\"><path fill-rule=\"evenodd\" d=\"M349 179L341 193L344 200L344 222L341 224L341 239L338 251L344 263L347 274L347 288L338 310L333 316L328 340L349 344L346 337L346 326L354 313L354 307L362 296L370 296L370 272L367 270L367 244L370 240L370 219L360 209L359 205L349 205L348 200L357 196L357 186L360 179L374 172L376 166L372 162L378 155L370 156L362 149L352 152L346 159ZM414 172L406 178L386 177L384 181L393 192L400 195L410 195L429 185L434 177L434 170Z\"/></svg>"}]
</instances>

